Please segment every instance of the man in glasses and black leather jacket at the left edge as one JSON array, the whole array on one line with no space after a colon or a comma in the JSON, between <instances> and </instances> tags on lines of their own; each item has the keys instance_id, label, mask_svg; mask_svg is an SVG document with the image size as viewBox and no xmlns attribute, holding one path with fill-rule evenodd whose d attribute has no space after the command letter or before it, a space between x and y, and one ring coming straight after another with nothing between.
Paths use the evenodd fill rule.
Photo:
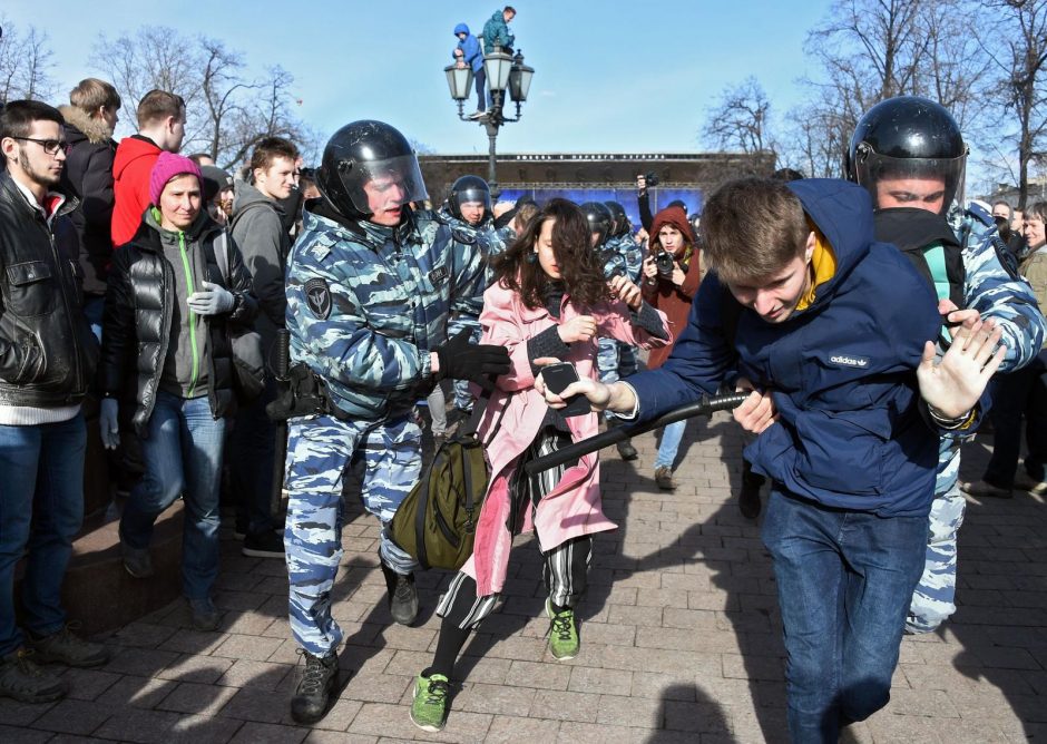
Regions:
<instances>
[{"instance_id":1,"label":"man in glasses and black leather jacket at the left edge","mask_svg":"<svg viewBox=\"0 0 1047 744\"><path fill-rule=\"evenodd\" d=\"M61 114L11 101L0 114L0 696L41 703L67 689L38 664L108 660L102 646L69 630L60 601L84 517L80 403L98 351L80 311L68 216L77 203L51 190L66 161ZM23 555L25 633L13 598Z\"/></svg>"}]
</instances>

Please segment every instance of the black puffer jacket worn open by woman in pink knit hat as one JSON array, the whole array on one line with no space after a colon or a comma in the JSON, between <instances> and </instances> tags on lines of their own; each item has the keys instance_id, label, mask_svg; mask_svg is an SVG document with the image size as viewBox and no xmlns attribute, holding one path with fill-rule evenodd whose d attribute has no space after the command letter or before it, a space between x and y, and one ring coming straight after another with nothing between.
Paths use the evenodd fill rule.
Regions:
<instances>
[{"instance_id":1,"label":"black puffer jacket worn open by woman in pink knit hat","mask_svg":"<svg viewBox=\"0 0 1047 744\"><path fill-rule=\"evenodd\" d=\"M124 395L127 372L134 371L135 412L131 421L139 437L148 434L149 418L170 339L172 307L176 298L175 274L164 257L160 233L155 221L143 217L131 242L112 254L106 315L102 326L101 388L106 395ZM232 239L228 241L229 280L218 268L215 239L224 228L200 212L186 233L186 241L199 244L207 264L208 281L233 293L233 310L206 317L208 327L207 364L211 412L218 419L235 411L233 354L229 333L234 326L249 329L258 312L251 295L251 274Z\"/></svg>"}]
</instances>

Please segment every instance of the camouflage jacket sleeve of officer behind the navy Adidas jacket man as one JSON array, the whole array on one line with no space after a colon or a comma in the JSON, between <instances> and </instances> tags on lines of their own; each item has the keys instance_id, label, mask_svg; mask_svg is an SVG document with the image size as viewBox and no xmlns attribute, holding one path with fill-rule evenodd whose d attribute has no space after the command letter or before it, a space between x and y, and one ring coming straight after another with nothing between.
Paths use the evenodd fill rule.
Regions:
<instances>
[{"instance_id":1,"label":"camouflage jacket sleeve of officer behind the navy Adidas jacket man","mask_svg":"<svg viewBox=\"0 0 1047 744\"><path fill-rule=\"evenodd\" d=\"M977 310L982 319L995 319L1004 331L1007 355L999 371L1025 366L1039 353L1047 333L1031 287L1001 262L999 254L1007 253L1007 246L987 212L977 205L963 212L953 204L949 223L963 248L967 307Z\"/></svg>"}]
</instances>

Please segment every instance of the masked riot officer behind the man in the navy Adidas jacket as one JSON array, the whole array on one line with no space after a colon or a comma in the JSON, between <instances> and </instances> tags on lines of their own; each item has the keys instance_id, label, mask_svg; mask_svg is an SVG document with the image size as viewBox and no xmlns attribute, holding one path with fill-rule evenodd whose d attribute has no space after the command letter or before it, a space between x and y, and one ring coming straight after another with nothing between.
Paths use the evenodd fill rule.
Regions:
<instances>
[{"instance_id":1,"label":"masked riot officer behind the man in the navy Adidas jacket","mask_svg":"<svg viewBox=\"0 0 1047 744\"><path fill-rule=\"evenodd\" d=\"M877 238L897 245L933 284L948 323L992 319L1007 346L1000 372L1014 371L1036 358L1044 316L1028 284L1008 268L992 217L977 205L963 207L966 164L956 120L939 104L916 96L869 109L847 157L849 178L872 195ZM940 346L948 341L943 331ZM940 443L927 561L909 610L909 633L935 630L956 610L956 535L966 506L957 487L960 441Z\"/></svg>"}]
</instances>

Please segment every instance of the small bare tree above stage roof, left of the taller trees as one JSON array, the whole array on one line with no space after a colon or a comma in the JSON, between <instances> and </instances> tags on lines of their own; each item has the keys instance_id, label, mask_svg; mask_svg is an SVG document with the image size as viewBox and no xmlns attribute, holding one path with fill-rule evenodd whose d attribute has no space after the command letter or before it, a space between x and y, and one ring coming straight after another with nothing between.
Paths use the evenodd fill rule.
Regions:
<instances>
[{"instance_id":1,"label":"small bare tree above stage roof, left of the taller trees","mask_svg":"<svg viewBox=\"0 0 1047 744\"><path fill-rule=\"evenodd\" d=\"M702 134L720 150L766 153L774 149L770 120L771 101L760 81L748 77L724 88L720 102L706 114Z\"/></svg>"}]
</instances>

